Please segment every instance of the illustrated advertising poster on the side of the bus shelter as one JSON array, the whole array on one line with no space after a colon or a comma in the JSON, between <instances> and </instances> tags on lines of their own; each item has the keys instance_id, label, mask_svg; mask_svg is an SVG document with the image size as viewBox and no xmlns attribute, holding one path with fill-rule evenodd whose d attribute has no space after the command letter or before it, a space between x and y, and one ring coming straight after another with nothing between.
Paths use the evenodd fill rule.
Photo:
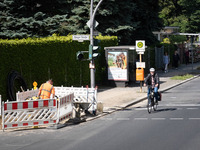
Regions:
<instances>
[{"instance_id":1,"label":"illustrated advertising poster on the side of the bus shelter","mask_svg":"<svg viewBox=\"0 0 200 150\"><path fill-rule=\"evenodd\" d=\"M127 51L107 51L108 80L128 81Z\"/></svg>"}]
</instances>

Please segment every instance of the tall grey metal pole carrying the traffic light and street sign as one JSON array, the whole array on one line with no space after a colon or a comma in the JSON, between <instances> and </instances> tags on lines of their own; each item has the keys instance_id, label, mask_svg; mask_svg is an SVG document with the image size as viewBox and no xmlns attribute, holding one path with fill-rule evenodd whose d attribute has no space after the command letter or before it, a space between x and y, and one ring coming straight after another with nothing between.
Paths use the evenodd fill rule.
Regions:
<instances>
[{"instance_id":1,"label":"tall grey metal pole carrying the traffic light and street sign","mask_svg":"<svg viewBox=\"0 0 200 150\"><path fill-rule=\"evenodd\" d=\"M99 3L97 4L96 8L94 9L93 12L93 0L91 0L91 5L90 5L90 45L94 45L94 40L93 40L93 35L94 35L94 18L95 14L97 12L97 9L101 5L103 0L100 0ZM90 61L90 66L95 66L94 64L94 59ZM90 67L90 85L91 88L95 87L95 67Z\"/></svg>"}]
</instances>

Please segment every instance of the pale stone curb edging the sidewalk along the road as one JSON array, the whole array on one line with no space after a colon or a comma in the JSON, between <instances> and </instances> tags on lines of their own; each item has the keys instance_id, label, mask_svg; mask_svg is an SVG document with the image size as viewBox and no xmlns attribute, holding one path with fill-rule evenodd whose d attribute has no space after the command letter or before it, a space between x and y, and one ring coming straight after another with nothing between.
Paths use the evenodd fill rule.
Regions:
<instances>
[{"instance_id":1,"label":"pale stone curb edging the sidewalk along the road","mask_svg":"<svg viewBox=\"0 0 200 150\"><path fill-rule=\"evenodd\" d=\"M189 81L191 81L191 80L194 80L194 79L196 79L196 78L198 78L198 77L200 77L200 75L196 75L196 76L194 76L194 77L192 77L192 78L189 78L189 79L186 79L186 80L184 80L184 81L181 81L180 83L177 83L177 84L168 86L168 87L166 87L166 88L164 88L164 89L161 89L160 92L161 92L161 93L164 93L165 91L168 91L168 90L170 90L170 89L172 89L172 88L175 88L175 87L177 87L177 86L179 86L179 85L182 85L182 84L184 84L184 83L186 83L186 82L189 82ZM114 113L114 112L116 112L116 111L118 111L118 110L123 110L123 109L125 109L125 108L127 108L127 107L130 107L130 106L135 105L135 104L137 104L137 103L139 103L139 102L142 102L142 101L144 101L144 100L146 100L146 99L147 99L146 96L140 97L140 98L138 98L138 99L136 99L136 100L134 100L134 101L132 101L132 102L129 102L129 103L125 104L125 105L122 105L121 107L119 106L119 107L120 107L119 109L112 110L112 111L108 111L108 112L106 112L106 113L102 113L102 114L100 114L100 115L98 115L98 116L95 116L95 117L93 117L93 118L87 118L86 121L92 121L92 120L94 120L94 119L97 119L97 118L106 116L106 115L108 115L108 114L112 114L112 113Z\"/></svg>"}]
</instances>

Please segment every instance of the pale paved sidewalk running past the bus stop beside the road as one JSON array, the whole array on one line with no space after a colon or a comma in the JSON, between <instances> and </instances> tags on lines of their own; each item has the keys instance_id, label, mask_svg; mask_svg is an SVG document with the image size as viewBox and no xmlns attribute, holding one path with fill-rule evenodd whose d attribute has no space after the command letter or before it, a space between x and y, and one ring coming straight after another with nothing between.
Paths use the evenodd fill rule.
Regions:
<instances>
[{"instance_id":1,"label":"pale paved sidewalk running past the bus stop beside the road","mask_svg":"<svg viewBox=\"0 0 200 150\"><path fill-rule=\"evenodd\" d=\"M193 66L193 70L192 70ZM182 64L179 68L169 69L168 73L164 73L163 71L158 71L158 75L160 77L160 92L164 92L170 88L173 88L179 84L187 82L188 80L172 80L170 79L176 75L185 75L185 74L193 74L196 78L200 74L200 70L197 68L200 67L200 62L185 65ZM193 79L192 78L192 79ZM140 92L140 84L135 83L133 87L114 87L107 89L98 89L97 100L98 102L103 103L103 112L109 113L115 111L120 108L124 108L133 104L136 104L140 101L145 100L147 97L147 88L142 87L142 92Z\"/></svg>"}]
</instances>

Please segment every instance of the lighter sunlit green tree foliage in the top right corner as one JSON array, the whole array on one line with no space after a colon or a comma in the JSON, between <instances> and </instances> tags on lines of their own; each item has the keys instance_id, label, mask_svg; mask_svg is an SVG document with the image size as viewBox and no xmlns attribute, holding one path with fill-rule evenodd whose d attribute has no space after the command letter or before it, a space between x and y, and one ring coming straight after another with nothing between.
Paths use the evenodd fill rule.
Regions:
<instances>
[{"instance_id":1,"label":"lighter sunlit green tree foliage in the top right corner","mask_svg":"<svg viewBox=\"0 0 200 150\"><path fill-rule=\"evenodd\" d=\"M165 26L179 26L180 32L200 32L200 0L160 0L160 17Z\"/></svg>"}]
</instances>

